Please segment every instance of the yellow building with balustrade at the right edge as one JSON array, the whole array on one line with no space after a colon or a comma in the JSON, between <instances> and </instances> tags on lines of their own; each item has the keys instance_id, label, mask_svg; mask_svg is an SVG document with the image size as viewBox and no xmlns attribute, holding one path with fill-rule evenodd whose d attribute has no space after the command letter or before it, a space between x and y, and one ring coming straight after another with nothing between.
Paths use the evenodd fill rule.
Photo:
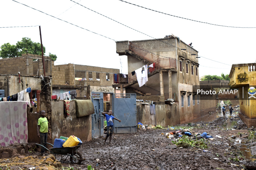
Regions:
<instances>
[{"instance_id":1,"label":"yellow building with balustrade at the right edge","mask_svg":"<svg viewBox=\"0 0 256 170\"><path fill-rule=\"evenodd\" d=\"M230 87L239 88L239 117L247 127L256 126L256 64L233 64L229 73Z\"/></svg>"}]
</instances>

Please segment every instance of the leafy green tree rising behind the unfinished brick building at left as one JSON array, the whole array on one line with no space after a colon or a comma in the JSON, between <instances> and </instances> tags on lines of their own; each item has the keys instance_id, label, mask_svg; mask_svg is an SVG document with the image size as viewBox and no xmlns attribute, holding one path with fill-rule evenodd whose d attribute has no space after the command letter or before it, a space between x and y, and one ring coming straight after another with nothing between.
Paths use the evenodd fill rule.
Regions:
<instances>
[{"instance_id":1,"label":"leafy green tree rising behind the unfinished brick building at left","mask_svg":"<svg viewBox=\"0 0 256 170\"><path fill-rule=\"evenodd\" d=\"M45 47L43 46L43 52L45 53ZM30 38L23 37L21 41L18 41L16 45L10 45L5 43L1 46L0 57L1 58L12 58L20 57L22 54L37 54L42 55L41 44L39 42L33 42ZM51 59L55 61L57 56L49 53Z\"/></svg>"}]
</instances>

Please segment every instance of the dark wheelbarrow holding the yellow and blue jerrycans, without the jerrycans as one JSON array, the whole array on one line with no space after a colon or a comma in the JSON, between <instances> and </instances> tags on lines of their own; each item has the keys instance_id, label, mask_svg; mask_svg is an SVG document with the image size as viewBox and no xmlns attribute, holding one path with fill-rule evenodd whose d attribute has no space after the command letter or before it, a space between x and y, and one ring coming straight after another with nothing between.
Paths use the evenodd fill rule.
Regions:
<instances>
[{"instance_id":1,"label":"dark wheelbarrow holding the yellow and blue jerrycans, without the jerrycans","mask_svg":"<svg viewBox=\"0 0 256 170\"><path fill-rule=\"evenodd\" d=\"M39 146L44 147L41 144L36 143ZM52 148L46 148L44 147L46 150L48 150L50 153L52 153L53 155L61 155L61 159L60 161L66 161L66 159L68 157L70 157L70 162L72 164L81 164L82 161L84 161L85 159L82 157L82 154L80 152L78 152L78 148L82 145L77 145L77 146L72 146L72 147L62 147L62 148L53 148L53 144L51 143L47 143L52 146Z\"/></svg>"}]
</instances>

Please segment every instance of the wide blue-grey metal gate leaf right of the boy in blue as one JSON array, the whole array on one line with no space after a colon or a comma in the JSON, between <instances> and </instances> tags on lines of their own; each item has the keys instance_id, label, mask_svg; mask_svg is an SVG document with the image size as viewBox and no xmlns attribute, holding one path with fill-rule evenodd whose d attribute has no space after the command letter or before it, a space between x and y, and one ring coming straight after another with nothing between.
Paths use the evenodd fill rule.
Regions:
<instances>
[{"instance_id":1,"label":"wide blue-grey metal gate leaf right of the boy in blue","mask_svg":"<svg viewBox=\"0 0 256 170\"><path fill-rule=\"evenodd\" d=\"M114 94L113 116L121 120L114 120L114 133L136 132L136 94Z\"/></svg>"}]
</instances>

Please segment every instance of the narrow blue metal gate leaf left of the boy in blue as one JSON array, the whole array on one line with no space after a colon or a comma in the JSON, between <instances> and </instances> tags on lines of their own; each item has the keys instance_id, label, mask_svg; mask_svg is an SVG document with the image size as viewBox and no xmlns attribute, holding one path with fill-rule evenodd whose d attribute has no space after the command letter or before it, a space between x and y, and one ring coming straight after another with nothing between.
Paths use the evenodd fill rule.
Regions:
<instances>
[{"instance_id":1,"label":"narrow blue metal gate leaf left of the boy in blue","mask_svg":"<svg viewBox=\"0 0 256 170\"><path fill-rule=\"evenodd\" d=\"M92 138L103 136L104 116L103 112L103 93L92 92L92 103L95 112L92 114Z\"/></svg>"}]
</instances>

